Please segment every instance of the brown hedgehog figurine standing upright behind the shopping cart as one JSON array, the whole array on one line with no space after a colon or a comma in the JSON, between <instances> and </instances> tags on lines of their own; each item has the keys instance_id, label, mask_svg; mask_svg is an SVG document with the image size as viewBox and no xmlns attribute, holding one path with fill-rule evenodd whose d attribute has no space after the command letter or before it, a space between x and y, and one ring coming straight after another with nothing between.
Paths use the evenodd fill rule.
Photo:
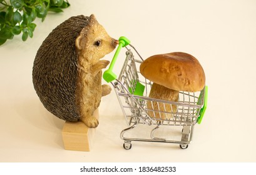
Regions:
<instances>
[{"instance_id":1,"label":"brown hedgehog figurine standing upright behind the shopping cart","mask_svg":"<svg viewBox=\"0 0 256 175\"><path fill-rule=\"evenodd\" d=\"M110 86L101 85L101 60L118 41L108 36L93 14L73 16L59 24L39 47L33 84L44 107L65 121L83 121L96 128L93 112Z\"/></svg>"}]
</instances>

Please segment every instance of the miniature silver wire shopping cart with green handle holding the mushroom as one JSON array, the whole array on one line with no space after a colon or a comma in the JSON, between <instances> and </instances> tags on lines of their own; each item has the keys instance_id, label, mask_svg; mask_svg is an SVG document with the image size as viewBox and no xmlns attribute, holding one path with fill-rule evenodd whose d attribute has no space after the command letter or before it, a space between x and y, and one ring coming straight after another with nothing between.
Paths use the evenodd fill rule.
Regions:
<instances>
[{"instance_id":1,"label":"miniature silver wire shopping cart with green handle holding the mushroom","mask_svg":"<svg viewBox=\"0 0 256 175\"><path fill-rule=\"evenodd\" d=\"M127 49L126 59L121 73L117 78L112 70L122 47L126 47ZM136 52L139 59L135 59L131 49ZM201 123L203 114L207 108L207 86L197 93L180 91L178 102L149 98L148 95L152 82L144 78L138 71L142 62L143 59L135 47L131 46L130 41L126 37L120 37L119 46L111 61L110 68L103 74L105 81L111 83L115 88L118 101L128 124L128 128L123 129L120 134L121 139L124 141L123 147L125 149L131 149L131 141L145 141L177 143L180 144L180 148L182 149L188 148L188 144L192 141L193 127L196 123ZM163 110L160 110L160 108L154 109L153 103L156 103L158 106L163 105L166 108L163 108ZM176 106L177 110L166 110L167 106L170 105ZM159 114L163 117L157 117ZM125 137L125 133L131 130L134 131L140 124L153 126L149 130L149 137ZM179 139L167 139L165 136L156 136L156 131L160 127L165 126L179 126Z\"/></svg>"}]
</instances>

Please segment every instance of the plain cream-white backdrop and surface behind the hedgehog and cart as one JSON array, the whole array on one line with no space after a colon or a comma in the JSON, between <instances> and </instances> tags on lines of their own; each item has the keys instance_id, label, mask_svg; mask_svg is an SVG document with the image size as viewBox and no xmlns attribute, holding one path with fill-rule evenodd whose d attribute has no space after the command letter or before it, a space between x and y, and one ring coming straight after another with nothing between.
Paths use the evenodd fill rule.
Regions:
<instances>
[{"instance_id":1,"label":"plain cream-white backdrop and surface behind the hedgehog and cart","mask_svg":"<svg viewBox=\"0 0 256 175\"><path fill-rule=\"evenodd\" d=\"M0 46L0 162L256 161L256 1L69 2L64 13L36 21L33 39L16 36ZM154 143L123 149L119 134L126 123L112 91L102 99L91 152L64 150L64 121L44 109L33 88L34 56L58 24L92 13L110 36L128 37L143 58L182 51L200 61L208 108L188 149ZM116 74L122 63L117 61Z\"/></svg>"}]
</instances>

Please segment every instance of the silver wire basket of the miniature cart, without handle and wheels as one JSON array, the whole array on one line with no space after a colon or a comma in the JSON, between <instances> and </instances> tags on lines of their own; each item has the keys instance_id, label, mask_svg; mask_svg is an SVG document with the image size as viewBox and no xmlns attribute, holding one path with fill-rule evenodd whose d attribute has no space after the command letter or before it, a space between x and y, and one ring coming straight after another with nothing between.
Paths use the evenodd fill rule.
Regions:
<instances>
[{"instance_id":1,"label":"silver wire basket of the miniature cart, without handle and wheels","mask_svg":"<svg viewBox=\"0 0 256 175\"><path fill-rule=\"evenodd\" d=\"M128 50L120 76L112 83L128 125L140 123L193 126L196 124L203 106L204 89L197 93L180 91L178 102L148 98L152 83L138 71L140 63L141 61L134 59L133 53ZM145 86L143 96L133 95L138 83ZM174 106L176 111L173 110Z\"/></svg>"}]
</instances>

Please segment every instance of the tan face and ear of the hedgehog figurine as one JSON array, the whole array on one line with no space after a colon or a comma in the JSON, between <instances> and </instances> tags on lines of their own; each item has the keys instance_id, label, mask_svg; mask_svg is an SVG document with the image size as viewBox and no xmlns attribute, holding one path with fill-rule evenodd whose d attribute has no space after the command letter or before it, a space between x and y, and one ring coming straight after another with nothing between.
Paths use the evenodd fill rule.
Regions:
<instances>
[{"instance_id":1,"label":"tan face and ear of the hedgehog figurine","mask_svg":"<svg viewBox=\"0 0 256 175\"><path fill-rule=\"evenodd\" d=\"M83 28L76 39L76 48L83 54L84 58L96 63L106 54L111 53L116 47L117 41L108 35L93 15L90 23Z\"/></svg>"}]
</instances>

